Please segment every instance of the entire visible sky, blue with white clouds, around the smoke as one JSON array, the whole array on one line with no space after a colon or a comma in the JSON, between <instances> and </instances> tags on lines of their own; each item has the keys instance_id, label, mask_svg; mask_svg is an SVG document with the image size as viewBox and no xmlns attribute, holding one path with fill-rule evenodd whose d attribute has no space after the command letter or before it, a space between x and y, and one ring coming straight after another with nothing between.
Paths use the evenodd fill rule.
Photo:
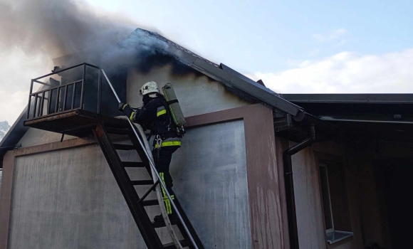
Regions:
<instances>
[{"instance_id":1,"label":"entire visible sky, blue with white clouds, around the smoke","mask_svg":"<svg viewBox=\"0 0 413 249\"><path fill-rule=\"evenodd\" d=\"M85 1L276 92L413 92L413 1ZM0 121L12 124L53 63L18 46L0 58Z\"/></svg>"}]
</instances>

